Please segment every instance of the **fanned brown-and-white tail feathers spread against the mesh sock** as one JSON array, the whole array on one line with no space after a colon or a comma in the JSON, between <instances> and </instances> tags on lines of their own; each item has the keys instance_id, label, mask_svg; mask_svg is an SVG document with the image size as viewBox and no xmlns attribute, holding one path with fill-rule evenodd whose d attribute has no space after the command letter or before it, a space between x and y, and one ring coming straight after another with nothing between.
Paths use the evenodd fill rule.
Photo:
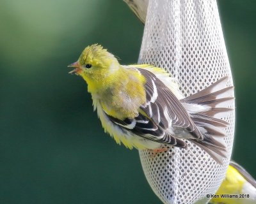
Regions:
<instances>
[{"instance_id":1,"label":"fanned brown-and-white tail feathers spread against the mesh sock","mask_svg":"<svg viewBox=\"0 0 256 204\"><path fill-rule=\"evenodd\" d=\"M214 84L196 94L181 99L180 102L188 111L203 140L190 141L208 152L218 163L223 163L227 150L223 138L229 123L221 118L227 117L234 103L234 87L227 87L228 77L221 78Z\"/></svg>"}]
</instances>

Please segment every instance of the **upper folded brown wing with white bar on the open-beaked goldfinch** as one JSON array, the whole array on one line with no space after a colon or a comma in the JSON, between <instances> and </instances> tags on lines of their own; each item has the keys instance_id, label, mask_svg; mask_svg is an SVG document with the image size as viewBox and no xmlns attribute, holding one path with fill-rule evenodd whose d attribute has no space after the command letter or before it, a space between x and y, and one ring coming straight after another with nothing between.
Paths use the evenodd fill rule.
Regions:
<instances>
[{"instance_id":1,"label":"upper folded brown wing with white bar on the open-beaked goldfinch","mask_svg":"<svg viewBox=\"0 0 256 204\"><path fill-rule=\"evenodd\" d=\"M173 92L154 73L146 69L139 70L146 78L147 99L145 105L142 105L140 109L164 131L173 131L173 135L185 131L189 133L190 138L202 140L204 136L196 128L189 113ZM180 138L182 138L182 135L180 135Z\"/></svg>"}]
</instances>

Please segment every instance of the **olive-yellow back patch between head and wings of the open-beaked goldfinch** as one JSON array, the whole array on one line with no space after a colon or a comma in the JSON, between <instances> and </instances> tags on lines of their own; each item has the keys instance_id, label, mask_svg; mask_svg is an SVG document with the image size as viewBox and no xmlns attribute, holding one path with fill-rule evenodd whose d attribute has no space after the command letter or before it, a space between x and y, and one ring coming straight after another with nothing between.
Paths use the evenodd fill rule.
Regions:
<instances>
[{"instance_id":1,"label":"olive-yellow back patch between head and wings of the open-beaked goldfinch","mask_svg":"<svg viewBox=\"0 0 256 204\"><path fill-rule=\"evenodd\" d=\"M138 109L146 101L145 78L134 69L124 69L117 77L120 80L111 77L109 88L100 92L100 105L112 117L132 119L138 116Z\"/></svg>"}]
</instances>

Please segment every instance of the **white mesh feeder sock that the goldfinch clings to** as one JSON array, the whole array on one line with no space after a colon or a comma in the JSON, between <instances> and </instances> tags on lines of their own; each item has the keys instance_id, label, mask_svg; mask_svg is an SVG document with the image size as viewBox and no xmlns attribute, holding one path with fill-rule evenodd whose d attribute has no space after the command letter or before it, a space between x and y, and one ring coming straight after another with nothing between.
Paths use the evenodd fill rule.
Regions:
<instances>
[{"instance_id":1,"label":"white mesh feeder sock that the goldfinch clings to","mask_svg":"<svg viewBox=\"0 0 256 204\"><path fill-rule=\"evenodd\" d=\"M230 77L228 86L233 85L216 1L150 0L139 63L168 70L184 96L225 76ZM234 111L223 119L230 126L222 165L191 142L188 149L166 146L168 151L155 157L140 150L148 183L163 203L207 203L207 194L216 193L232 152Z\"/></svg>"}]
</instances>

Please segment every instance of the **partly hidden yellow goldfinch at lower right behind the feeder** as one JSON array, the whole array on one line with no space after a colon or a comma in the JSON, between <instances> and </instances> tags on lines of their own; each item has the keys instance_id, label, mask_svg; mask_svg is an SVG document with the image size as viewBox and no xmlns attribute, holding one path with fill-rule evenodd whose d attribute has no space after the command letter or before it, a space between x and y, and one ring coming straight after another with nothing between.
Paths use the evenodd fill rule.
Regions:
<instances>
[{"instance_id":1,"label":"partly hidden yellow goldfinch at lower right behind the feeder","mask_svg":"<svg viewBox=\"0 0 256 204\"><path fill-rule=\"evenodd\" d=\"M256 180L239 164L230 161L226 177L211 204L256 203Z\"/></svg>"}]
</instances>

